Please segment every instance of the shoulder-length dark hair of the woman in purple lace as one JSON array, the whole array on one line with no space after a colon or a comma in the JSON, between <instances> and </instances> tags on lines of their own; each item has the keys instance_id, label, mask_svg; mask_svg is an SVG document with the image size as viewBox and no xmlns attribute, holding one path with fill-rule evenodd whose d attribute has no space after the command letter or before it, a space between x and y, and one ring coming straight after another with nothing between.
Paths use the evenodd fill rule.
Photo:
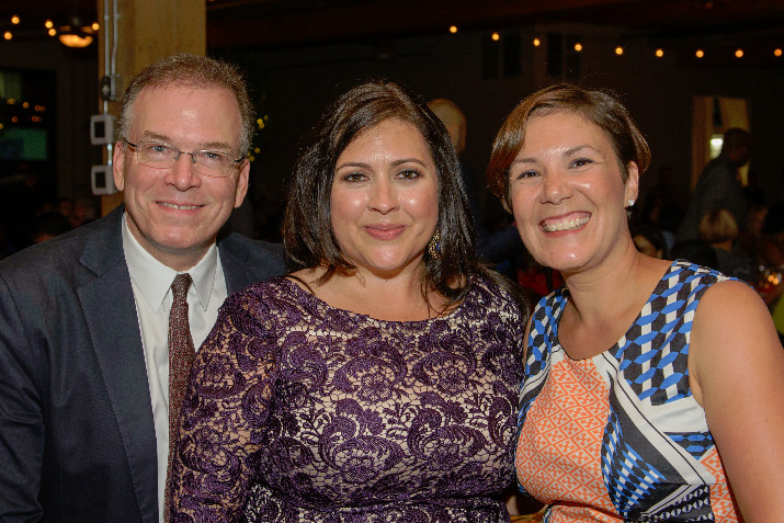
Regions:
<instances>
[{"instance_id":1,"label":"shoulder-length dark hair of the woman in purple lace","mask_svg":"<svg viewBox=\"0 0 784 523\"><path fill-rule=\"evenodd\" d=\"M361 83L340 95L313 128L294 169L284 215L283 245L302 268L327 266L321 281L354 265L332 231L330 194L338 157L361 133L389 120L412 124L430 147L439 179L441 255L424 253L422 292L435 289L450 304L462 299L473 276L485 273L475 250L473 218L457 155L441 121L418 96L388 81ZM425 294L427 296L427 294Z\"/></svg>"}]
</instances>

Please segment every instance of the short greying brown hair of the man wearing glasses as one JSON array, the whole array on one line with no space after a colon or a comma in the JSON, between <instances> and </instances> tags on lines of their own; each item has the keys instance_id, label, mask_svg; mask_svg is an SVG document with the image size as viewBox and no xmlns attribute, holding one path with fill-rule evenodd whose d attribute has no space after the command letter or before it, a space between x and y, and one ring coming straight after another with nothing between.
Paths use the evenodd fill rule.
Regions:
<instances>
[{"instance_id":1,"label":"short greying brown hair of the man wearing glasses","mask_svg":"<svg viewBox=\"0 0 784 523\"><path fill-rule=\"evenodd\" d=\"M225 61L189 53L179 53L162 58L141 69L130 80L123 95L117 138L121 140L128 138L134 103L145 88L173 84L193 88L225 88L231 91L237 100L242 120L239 152L241 155L248 152L255 130L255 113L242 73L237 67Z\"/></svg>"}]
</instances>

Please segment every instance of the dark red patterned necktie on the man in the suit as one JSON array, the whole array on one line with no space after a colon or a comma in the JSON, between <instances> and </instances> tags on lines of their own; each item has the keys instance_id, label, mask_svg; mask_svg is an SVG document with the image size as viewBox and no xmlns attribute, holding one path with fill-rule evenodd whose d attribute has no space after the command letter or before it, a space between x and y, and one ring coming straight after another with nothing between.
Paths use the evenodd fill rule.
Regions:
<instances>
[{"instance_id":1,"label":"dark red patterned necktie on the man in the suit","mask_svg":"<svg viewBox=\"0 0 784 523\"><path fill-rule=\"evenodd\" d=\"M166 521L169 521L169 501L171 492L171 464L174 457L177 434L180 431L180 409L185 396L188 376L191 373L195 351L191 338L191 327L188 322L188 289L193 280L191 275L178 274L171 284L174 300L169 312L169 463L167 467L166 503L163 505Z\"/></svg>"}]
</instances>

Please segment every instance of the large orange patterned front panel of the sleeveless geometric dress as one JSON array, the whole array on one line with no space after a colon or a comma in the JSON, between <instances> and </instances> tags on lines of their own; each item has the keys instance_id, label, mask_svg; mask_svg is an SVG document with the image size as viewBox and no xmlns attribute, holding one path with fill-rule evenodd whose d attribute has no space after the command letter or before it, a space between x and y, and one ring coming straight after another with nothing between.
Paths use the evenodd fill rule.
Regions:
<instances>
[{"instance_id":1,"label":"large orange patterned front panel of the sleeveless geometric dress","mask_svg":"<svg viewBox=\"0 0 784 523\"><path fill-rule=\"evenodd\" d=\"M529 493L545 503L579 502L615 513L602 481L600 459L610 413L607 386L591 360L563 360L550 373L553 379L529 410L520 434L518 478ZM573 513L577 508L564 509ZM550 521L559 521L556 512Z\"/></svg>"}]
</instances>

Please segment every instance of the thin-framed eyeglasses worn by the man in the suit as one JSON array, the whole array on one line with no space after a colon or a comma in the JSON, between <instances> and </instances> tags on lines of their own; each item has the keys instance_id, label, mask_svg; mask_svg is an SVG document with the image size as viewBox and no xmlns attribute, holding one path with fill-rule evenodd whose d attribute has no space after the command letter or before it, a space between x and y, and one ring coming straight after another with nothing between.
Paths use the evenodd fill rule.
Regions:
<instances>
[{"instance_id":1,"label":"thin-framed eyeglasses worn by the man in the suit","mask_svg":"<svg viewBox=\"0 0 784 523\"><path fill-rule=\"evenodd\" d=\"M231 174L231 168L243 160L243 158L235 160L226 152L215 150L186 152L160 141L139 141L138 144L123 141L136 150L139 163L156 169L169 169L180 159L181 155L191 155L193 169L205 177L226 178Z\"/></svg>"}]
</instances>

